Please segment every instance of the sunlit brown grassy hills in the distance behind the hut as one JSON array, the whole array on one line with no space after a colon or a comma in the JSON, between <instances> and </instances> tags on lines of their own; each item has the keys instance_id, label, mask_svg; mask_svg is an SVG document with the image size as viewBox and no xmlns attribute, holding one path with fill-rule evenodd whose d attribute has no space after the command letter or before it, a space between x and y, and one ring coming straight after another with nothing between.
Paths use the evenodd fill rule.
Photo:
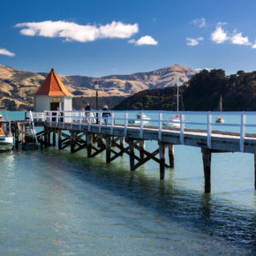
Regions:
<instances>
[{"instance_id":1,"label":"sunlit brown grassy hills in the distance behind the hut","mask_svg":"<svg viewBox=\"0 0 256 256\"><path fill-rule=\"evenodd\" d=\"M108 104L110 108L124 97L145 89L171 87L176 78L181 82L191 79L196 72L190 68L175 64L154 72L138 72L130 75L112 75L99 78L100 106ZM33 94L45 79L47 73L26 72L0 64L0 108L23 110L33 108ZM92 77L59 75L64 85L77 95L73 100L74 108L84 107L87 102L94 105L95 91ZM94 107L94 106L93 106Z\"/></svg>"}]
</instances>

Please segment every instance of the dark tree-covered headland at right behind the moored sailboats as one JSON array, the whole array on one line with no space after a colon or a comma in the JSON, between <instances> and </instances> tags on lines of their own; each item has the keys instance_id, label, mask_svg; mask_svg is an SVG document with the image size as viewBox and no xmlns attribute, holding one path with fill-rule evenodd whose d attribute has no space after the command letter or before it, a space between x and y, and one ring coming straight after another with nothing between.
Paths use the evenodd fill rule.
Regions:
<instances>
[{"instance_id":1,"label":"dark tree-covered headland at right behind the moored sailboats","mask_svg":"<svg viewBox=\"0 0 256 256\"><path fill-rule=\"evenodd\" d=\"M256 110L256 72L226 76L223 70L203 70L179 90L184 110L217 111L221 95L224 111ZM177 87L145 90L124 99L114 109L176 110L176 95Z\"/></svg>"}]
</instances>

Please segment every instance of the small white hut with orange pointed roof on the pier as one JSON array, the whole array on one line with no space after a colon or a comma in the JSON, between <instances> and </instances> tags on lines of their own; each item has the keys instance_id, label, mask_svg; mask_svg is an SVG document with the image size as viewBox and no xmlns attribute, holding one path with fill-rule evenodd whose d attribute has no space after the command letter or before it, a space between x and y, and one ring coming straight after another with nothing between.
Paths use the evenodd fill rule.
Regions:
<instances>
[{"instance_id":1,"label":"small white hut with orange pointed roof on the pier","mask_svg":"<svg viewBox=\"0 0 256 256\"><path fill-rule=\"evenodd\" d=\"M74 95L52 69L34 94L34 112L54 111L58 108L61 111L72 110L72 97Z\"/></svg>"}]
</instances>

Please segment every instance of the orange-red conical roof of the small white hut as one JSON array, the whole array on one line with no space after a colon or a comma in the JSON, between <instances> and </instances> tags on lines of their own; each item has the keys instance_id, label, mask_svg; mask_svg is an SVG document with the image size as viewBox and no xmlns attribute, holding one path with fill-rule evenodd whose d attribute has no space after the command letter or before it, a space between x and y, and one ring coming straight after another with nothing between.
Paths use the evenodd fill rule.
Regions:
<instances>
[{"instance_id":1,"label":"orange-red conical roof of the small white hut","mask_svg":"<svg viewBox=\"0 0 256 256\"><path fill-rule=\"evenodd\" d=\"M34 96L48 95L48 96L74 96L64 86L63 82L56 75L52 69L47 78L43 81L41 87L35 92Z\"/></svg>"}]
</instances>

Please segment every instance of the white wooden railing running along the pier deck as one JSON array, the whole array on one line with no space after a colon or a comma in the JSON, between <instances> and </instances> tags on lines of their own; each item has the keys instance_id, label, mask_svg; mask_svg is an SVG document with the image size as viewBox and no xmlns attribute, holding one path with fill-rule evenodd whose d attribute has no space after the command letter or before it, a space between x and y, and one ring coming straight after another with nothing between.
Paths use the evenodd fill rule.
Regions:
<instances>
[{"instance_id":1,"label":"white wooden railing running along the pier deck","mask_svg":"<svg viewBox=\"0 0 256 256\"><path fill-rule=\"evenodd\" d=\"M98 117L97 115L98 114ZM155 119L147 117L147 115L151 115ZM239 117L237 123L215 123L212 121L213 117L220 116L235 116ZM135 117L137 116L137 117ZM178 118L172 118L176 117ZM203 122L194 122L188 121L186 117L204 117ZM246 124L246 117L254 116L255 124ZM256 133L256 112L203 112L203 111L154 111L154 110L144 110L144 111L135 111L135 110L127 110L127 111L112 111L112 110L101 110L101 111L44 111L44 113L33 113L33 117L35 121L47 121L50 124L52 123L60 123L59 125L63 125L65 123L68 124L79 124L81 128L82 125L88 126L88 131L91 131L92 125L97 125L98 131L102 132L102 127L108 125L110 127L110 133L113 134L113 129L115 126L122 125L124 126L124 135L127 135L128 128L137 127L139 128L140 138L144 137L144 128L145 126L154 126L152 128L158 129L158 137L159 140L162 140L162 132L167 131L168 127L175 127L180 136L180 143L184 144L184 127L194 128L203 127L203 129L207 132L207 147L212 147L212 130L213 126L215 126L215 131L218 130L218 127L226 127L228 132L231 131L232 128L239 129L239 139L240 139L240 151L244 152L245 149L245 129L246 128L255 128ZM155 127L156 126L156 127ZM231 129L231 130L230 130Z\"/></svg>"}]
</instances>

